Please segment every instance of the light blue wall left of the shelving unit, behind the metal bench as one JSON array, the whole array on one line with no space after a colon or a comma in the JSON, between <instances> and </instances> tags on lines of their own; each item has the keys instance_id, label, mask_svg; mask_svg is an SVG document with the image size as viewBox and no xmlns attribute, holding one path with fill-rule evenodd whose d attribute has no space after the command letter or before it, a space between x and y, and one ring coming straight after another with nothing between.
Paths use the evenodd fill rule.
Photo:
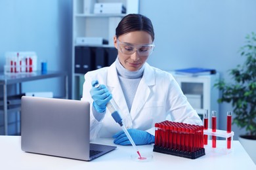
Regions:
<instances>
[{"instance_id":1,"label":"light blue wall left of the shelving unit, behind the metal bench","mask_svg":"<svg viewBox=\"0 0 256 170\"><path fill-rule=\"evenodd\" d=\"M48 70L69 71L71 62L72 1L0 1L0 64L7 51L37 52L37 68L47 60ZM3 71L3 67L0 67ZM54 94L63 92L58 80L25 83L24 92L43 91L51 82ZM1 91L2 92L2 91ZM1 94L1 93L0 93Z\"/></svg>"}]
</instances>

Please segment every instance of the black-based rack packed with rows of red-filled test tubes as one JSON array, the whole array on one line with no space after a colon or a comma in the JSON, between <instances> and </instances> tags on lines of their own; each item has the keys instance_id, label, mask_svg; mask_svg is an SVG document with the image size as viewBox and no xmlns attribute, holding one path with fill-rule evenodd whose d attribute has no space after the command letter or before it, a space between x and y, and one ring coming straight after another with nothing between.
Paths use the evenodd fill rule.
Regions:
<instances>
[{"instance_id":1,"label":"black-based rack packed with rows of red-filled test tubes","mask_svg":"<svg viewBox=\"0 0 256 170\"><path fill-rule=\"evenodd\" d=\"M165 120L155 128L154 152L190 159L205 155L203 126Z\"/></svg>"}]
</instances>

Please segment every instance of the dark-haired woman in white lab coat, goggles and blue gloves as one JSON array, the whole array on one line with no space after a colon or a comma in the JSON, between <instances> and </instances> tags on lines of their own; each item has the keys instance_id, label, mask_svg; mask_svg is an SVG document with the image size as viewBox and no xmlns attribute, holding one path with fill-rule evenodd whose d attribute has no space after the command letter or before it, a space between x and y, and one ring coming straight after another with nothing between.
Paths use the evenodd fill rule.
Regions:
<instances>
[{"instance_id":1,"label":"dark-haired woman in white lab coat, goggles and blue gloves","mask_svg":"<svg viewBox=\"0 0 256 170\"><path fill-rule=\"evenodd\" d=\"M85 74L81 100L91 103L91 139L114 137L116 144L131 144L106 109L112 98L135 144L154 143L154 126L167 115L175 122L202 125L173 76L146 63L153 42L150 19L128 14L116 28L116 61ZM93 80L98 80L98 88L92 86Z\"/></svg>"}]
</instances>

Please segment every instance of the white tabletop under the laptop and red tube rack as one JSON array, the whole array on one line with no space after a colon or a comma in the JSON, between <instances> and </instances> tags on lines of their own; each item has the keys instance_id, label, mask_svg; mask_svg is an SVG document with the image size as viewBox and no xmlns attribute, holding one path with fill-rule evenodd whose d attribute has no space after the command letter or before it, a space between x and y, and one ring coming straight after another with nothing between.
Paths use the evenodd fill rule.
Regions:
<instances>
[{"instance_id":1,"label":"white tabletop under the laptop and red tube rack","mask_svg":"<svg viewBox=\"0 0 256 170\"><path fill-rule=\"evenodd\" d=\"M98 139L95 143L114 145L112 139ZM225 143L217 141L217 147ZM0 169L256 169L239 141L233 141L232 152L212 151L210 148L206 149L205 156L196 160L152 152L153 145L138 148L142 156L152 154L152 161L131 160L131 155L136 154L133 147L119 145L116 150L93 161L31 154L20 149L20 136L0 136Z\"/></svg>"}]
</instances>

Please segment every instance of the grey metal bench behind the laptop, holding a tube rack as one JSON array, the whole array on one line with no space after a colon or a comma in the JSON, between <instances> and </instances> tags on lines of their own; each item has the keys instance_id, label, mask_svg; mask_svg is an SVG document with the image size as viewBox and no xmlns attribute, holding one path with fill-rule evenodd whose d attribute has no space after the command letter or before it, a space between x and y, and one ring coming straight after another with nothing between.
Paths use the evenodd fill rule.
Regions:
<instances>
[{"instance_id":1,"label":"grey metal bench behind the laptop, holding a tube rack","mask_svg":"<svg viewBox=\"0 0 256 170\"><path fill-rule=\"evenodd\" d=\"M42 73L41 71L35 71L32 73L26 74L10 74L5 75L4 73L0 73L0 85L3 86L3 106L0 107L0 114L3 113L4 116L4 128L5 135L8 135L8 113L20 111L20 105L13 105L12 107L8 106L7 103L7 86L9 84L16 84L18 92L17 95L22 93L22 82L29 82L33 80L43 80L46 78L58 78L64 77L64 97L68 99L68 74L64 71L47 71L46 73Z\"/></svg>"}]
</instances>

